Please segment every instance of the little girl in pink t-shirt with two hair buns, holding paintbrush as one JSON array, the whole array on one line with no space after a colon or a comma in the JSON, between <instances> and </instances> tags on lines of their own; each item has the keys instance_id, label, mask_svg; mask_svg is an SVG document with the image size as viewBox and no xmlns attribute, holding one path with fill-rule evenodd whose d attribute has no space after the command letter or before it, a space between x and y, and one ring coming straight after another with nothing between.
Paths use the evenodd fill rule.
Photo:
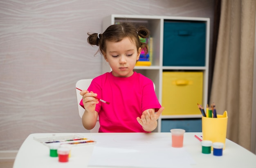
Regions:
<instances>
[{"instance_id":1,"label":"little girl in pink t-shirt with two hair buns, holding paintbrush","mask_svg":"<svg viewBox=\"0 0 256 168\"><path fill-rule=\"evenodd\" d=\"M121 23L109 26L102 34L88 35L88 43L99 46L112 72L94 78L88 90L80 92L85 129L93 129L99 116L99 132L153 131L164 108L157 100L153 82L133 71L141 48L148 52L148 46L139 40L139 36L148 37L148 29Z\"/></svg>"}]
</instances>

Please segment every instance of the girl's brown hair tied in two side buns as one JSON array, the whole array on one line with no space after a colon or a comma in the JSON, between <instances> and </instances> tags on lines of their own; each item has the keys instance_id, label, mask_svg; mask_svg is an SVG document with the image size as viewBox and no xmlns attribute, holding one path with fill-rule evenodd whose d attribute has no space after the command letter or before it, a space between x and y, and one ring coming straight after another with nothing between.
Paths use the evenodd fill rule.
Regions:
<instances>
[{"instance_id":1,"label":"girl's brown hair tied in two side buns","mask_svg":"<svg viewBox=\"0 0 256 168\"><path fill-rule=\"evenodd\" d=\"M137 50L145 50L145 55L148 53L148 46L146 43L141 42L139 38L146 38L149 36L149 30L144 26L136 28L131 23L120 23L109 26L104 33L87 33L89 37L87 41L91 45L99 46L99 52L103 55L106 53L106 41L119 42L124 37L129 37L135 42Z\"/></svg>"}]
</instances>

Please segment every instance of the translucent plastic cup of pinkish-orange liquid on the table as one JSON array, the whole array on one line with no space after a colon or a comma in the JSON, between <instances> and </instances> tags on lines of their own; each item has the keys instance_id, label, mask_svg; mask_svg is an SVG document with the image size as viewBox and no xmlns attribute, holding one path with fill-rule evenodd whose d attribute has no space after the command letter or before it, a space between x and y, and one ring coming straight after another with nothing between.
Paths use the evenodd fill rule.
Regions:
<instances>
[{"instance_id":1,"label":"translucent plastic cup of pinkish-orange liquid on the table","mask_svg":"<svg viewBox=\"0 0 256 168\"><path fill-rule=\"evenodd\" d=\"M172 134L172 147L182 148L184 139L184 129L171 129Z\"/></svg>"}]
</instances>

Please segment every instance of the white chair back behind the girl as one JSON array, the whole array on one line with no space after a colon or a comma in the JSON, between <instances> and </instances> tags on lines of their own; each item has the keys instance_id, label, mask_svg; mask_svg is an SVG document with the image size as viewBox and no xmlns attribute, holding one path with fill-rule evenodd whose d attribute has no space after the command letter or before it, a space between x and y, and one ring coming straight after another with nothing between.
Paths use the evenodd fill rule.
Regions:
<instances>
[{"instance_id":1,"label":"white chair back behind the girl","mask_svg":"<svg viewBox=\"0 0 256 168\"><path fill-rule=\"evenodd\" d=\"M81 79L81 80L76 82L76 88L79 88L81 90L88 89L91 82L92 82L92 79ZM85 109L83 107L81 107L81 105L79 105L80 101L83 98L81 96L80 92L81 92L80 90L76 89L78 112L79 112L79 116L82 118ZM99 132L99 120L97 120L97 123L96 123L95 127L93 129L91 129L90 132L93 132L93 133L94 132L96 132L96 133Z\"/></svg>"}]
</instances>

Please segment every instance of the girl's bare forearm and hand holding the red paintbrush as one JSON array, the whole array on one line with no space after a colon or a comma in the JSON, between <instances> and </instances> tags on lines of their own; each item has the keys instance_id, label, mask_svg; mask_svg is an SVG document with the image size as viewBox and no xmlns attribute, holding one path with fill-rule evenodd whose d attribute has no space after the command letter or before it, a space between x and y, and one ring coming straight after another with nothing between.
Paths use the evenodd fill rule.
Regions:
<instances>
[{"instance_id":1,"label":"girl's bare forearm and hand holding the red paintbrush","mask_svg":"<svg viewBox=\"0 0 256 168\"><path fill-rule=\"evenodd\" d=\"M95 98L97 94L89 92L88 90L83 90L80 94L83 96L83 106L85 108L82 116L83 127L90 130L95 127L97 122L98 112L95 111L95 108L99 101Z\"/></svg>"}]
</instances>

